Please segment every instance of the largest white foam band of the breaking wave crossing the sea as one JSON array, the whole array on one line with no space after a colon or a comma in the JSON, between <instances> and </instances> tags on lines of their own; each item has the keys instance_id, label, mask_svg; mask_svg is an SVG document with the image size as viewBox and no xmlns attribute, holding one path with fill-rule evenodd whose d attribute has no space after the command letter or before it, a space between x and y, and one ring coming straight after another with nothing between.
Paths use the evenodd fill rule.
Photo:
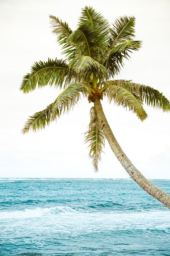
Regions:
<instances>
[{"instance_id":1,"label":"largest white foam band of the breaking wave crossing the sea","mask_svg":"<svg viewBox=\"0 0 170 256\"><path fill-rule=\"evenodd\" d=\"M169 211L140 211L140 212L116 212L116 211L112 211L109 213L105 213L105 212L94 212L92 209L89 208L79 208L79 207L70 207L70 206L56 206L56 207L49 207L49 208L41 208L41 207L37 207L34 209L25 209L24 211L1 211L0 212L0 220L5 220L5 219L33 219L33 218L37 218L37 217L45 217L45 216L54 216L54 215L61 215L61 214L78 214L79 216L83 216L84 214L88 214L88 218L93 217L96 218L98 216L98 218L104 218L104 219L108 219L112 220L114 219L115 222L118 224L120 222L122 222L122 220L124 220L124 222L126 222L126 224L129 224L129 228L131 226L131 222L135 222L134 220L136 220L138 223L138 221L142 221L143 223L143 228L146 229L148 228L148 226L145 226L145 223L150 224L152 223L152 221L156 221L157 229L160 230L164 230L167 228L170 228L170 223L168 222L169 218L170 218L170 213ZM77 217L78 217L77 215ZM103 216L104 215L104 216ZM96 217L95 217L96 216ZM103 217L102 217L103 216ZM76 218L76 217L74 217ZM84 217L83 217L84 218ZM85 217L87 218L87 216ZM161 225L160 221L162 221L163 219L166 220L167 224L163 224ZM143 220L145 220L143 222ZM142 225L141 223L141 225ZM160 225L158 225L160 223ZM134 223L133 223L134 224ZM137 224L138 226L138 224ZM141 227L142 228L142 227Z\"/></svg>"}]
</instances>

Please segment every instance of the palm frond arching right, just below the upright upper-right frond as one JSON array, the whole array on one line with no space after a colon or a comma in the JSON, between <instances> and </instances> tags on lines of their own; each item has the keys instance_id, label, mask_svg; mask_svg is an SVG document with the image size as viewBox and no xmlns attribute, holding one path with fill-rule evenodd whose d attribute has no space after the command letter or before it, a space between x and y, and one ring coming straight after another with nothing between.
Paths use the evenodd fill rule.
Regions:
<instances>
[{"instance_id":1,"label":"palm frond arching right, just below the upright upper-right frond","mask_svg":"<svg viewBox=\"0 0 170 256\"><path fill-rule=\"evenodd\" d=\"M123 67L124 59L129 59L129 53L132 53L131 50L139 50L141 47L141 41L124 41L113 48L109 49L106 55L106 59L104 61L104 66L108 68L109 75L115 76Z\"/></svg>"}]
</instances>

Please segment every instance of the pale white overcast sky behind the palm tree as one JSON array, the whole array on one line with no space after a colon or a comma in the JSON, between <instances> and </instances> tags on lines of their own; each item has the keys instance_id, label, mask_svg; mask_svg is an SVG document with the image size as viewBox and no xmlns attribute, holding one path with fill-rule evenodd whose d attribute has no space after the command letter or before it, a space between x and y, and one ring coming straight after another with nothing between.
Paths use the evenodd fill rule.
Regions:
<instances>
[{"instance_id":1,"label":"pale white overcast sky behind the palm tree","mask_svg":"<svg viewBox=\"0 0 170 256\"><path fill-rule=\"evenodd\" d=\"M99 172L93 170L83 133L88 130L87 99L38 133L21 134L28 116L52 103L59 91L44 87L19 91L35 61L64 58L51 33L49 14L76 29L81 8L93 6L112 24L123 15L136 17L136 40L142 40L117 79L149 85L170 99L169 0L58 1L0 0L0 177L128 178L106 142ZM109 125L128 158L148 179L170 179L170 116L145 106L144 122L132 112L102 101Z\"/></svg>"}]
</instances>

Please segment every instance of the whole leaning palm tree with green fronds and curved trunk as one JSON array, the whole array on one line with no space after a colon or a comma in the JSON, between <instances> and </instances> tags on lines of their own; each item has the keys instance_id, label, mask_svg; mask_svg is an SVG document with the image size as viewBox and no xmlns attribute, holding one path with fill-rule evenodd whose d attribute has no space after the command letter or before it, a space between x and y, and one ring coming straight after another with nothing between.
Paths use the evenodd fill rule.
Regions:
<instances>
[{"instance_id":1,"label":"whole leaning palm tree with green fronds and curved trunk","mask_svg":"<svg viewBox=\"0 0 170 256\"><path fill-rule=\"evenodd\" d=\"M35 62L31 72L24 76L20 90L29 93L36 87L46 85L63 90L46 109L30 116L22 130L23 134L29 130L36 132L43 129L61 114L69 112L82 94L88 98L89 103L94 103L90 111L90 124L85 133L85 142L89 143L89 157L95 171L98 171L98 162L106 138L132 179L170 208L170 196L148 181L122 151L101 106L103 96L107 97L110 103L128 108L141 121L147 118L143 103L170 111L170 102L152 87L127 80L113 80L123 67L124 60L129 59L129 54L141 47L141 41L133 40L135 18L120 17L110 27L109 22L100 13L90 6L85 6L77 29L72 31L66 22L52 15L49 17L52 32L57 35L66 60L56 58L48 59L47 62Z\"/></svg>"}]
</instances>

